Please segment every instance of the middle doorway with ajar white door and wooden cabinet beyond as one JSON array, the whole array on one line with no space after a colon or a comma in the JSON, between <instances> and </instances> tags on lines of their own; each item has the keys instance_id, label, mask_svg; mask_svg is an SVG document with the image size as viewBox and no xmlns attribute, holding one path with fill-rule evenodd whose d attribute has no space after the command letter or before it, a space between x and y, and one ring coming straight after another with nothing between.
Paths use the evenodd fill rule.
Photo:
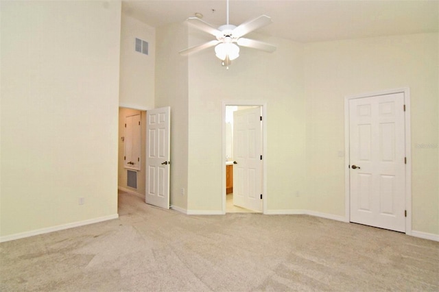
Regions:
<instances>
[{"instance_id":1,"label":"middle doorway with ajar white door and wooden cabinet beyond","mask_svg":"<svg viewBox=\"0 0 439 292\"><path fill-rule=\"evenodd\" d=\"M266 212L265 119L265 103L223 102L223 214Z\"/></svg>"}]
</instances>

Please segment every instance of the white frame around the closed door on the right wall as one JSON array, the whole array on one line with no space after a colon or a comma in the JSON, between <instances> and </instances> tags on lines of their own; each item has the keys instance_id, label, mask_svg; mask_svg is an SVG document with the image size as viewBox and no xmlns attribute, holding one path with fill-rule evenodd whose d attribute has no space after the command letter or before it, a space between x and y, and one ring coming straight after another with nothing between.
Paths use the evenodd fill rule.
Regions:
<instances>
[{"instance_id":1,"label":"white frame around the closed door on the right wall","mask_svg":"<svg viewBox=\"0 0 439 292\"><path fill-rule=\"evenodd\" d=\"M346 222L351 221L351 187L350 187L350 171L348 169L349 151L350 151L350 137L349 137L349 101L351 99L359 99L364 97L375 97L379 95L390 95L394 93L403 93L405 104L405 157L407 163L405 164L405 210L407 210L407 217L405 217L405 234L412 235L412 137L410 131L410 88L396 88L390 90L383 90L375 93L364 93L360 95L349 95L344 98L344 194L345 194L345 219Z\"/></svg>"}]
</instances>

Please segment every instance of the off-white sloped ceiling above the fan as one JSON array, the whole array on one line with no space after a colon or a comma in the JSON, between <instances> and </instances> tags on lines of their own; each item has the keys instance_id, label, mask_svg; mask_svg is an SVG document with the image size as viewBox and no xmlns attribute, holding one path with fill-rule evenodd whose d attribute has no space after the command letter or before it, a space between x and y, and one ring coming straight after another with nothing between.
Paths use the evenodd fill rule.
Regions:
<instances>
[{"instance_id":1,"label":"off-white sloped ceiling above the fan","mask_svg":"<svg viewBox=\"0 0 439 292\"><path fill-rule=\"evenodd\" d=\"M204 21L219 26L226 23L226 0L129 0L123 1L123 12L152 27L182 22L200 12ZM273 23L257 32L297 42L439 31L439 0L230 0L230 24L261 14Z\"/></svg>"}]
</instances>

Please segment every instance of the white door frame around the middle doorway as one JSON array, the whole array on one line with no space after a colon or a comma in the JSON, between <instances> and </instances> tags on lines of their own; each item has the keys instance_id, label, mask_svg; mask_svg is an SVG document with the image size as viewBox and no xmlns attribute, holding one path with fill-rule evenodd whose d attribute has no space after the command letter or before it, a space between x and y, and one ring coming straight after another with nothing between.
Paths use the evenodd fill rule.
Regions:
<instances>
[{"instance_id":1,"label":"white door frame around the middle doorway","mask_svg":"<svg viewBox=\"0 0 439 292\"><path fill-rule=\"evenodd\" d=\"M262 112L262 208L267 213L267 103L260 100L222 101L222 214L226 214L226 106L260 106Z\"/></svg>"}]
</instances>

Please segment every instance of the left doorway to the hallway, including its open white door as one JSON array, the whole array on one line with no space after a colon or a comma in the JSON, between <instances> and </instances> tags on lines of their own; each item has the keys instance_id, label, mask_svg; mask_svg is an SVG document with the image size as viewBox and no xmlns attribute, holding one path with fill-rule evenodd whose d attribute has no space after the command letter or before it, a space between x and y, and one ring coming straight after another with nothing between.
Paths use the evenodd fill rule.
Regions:
<instances>
[{"instance_id":1,"label":"left doorway to the hallway, including its open white door","mask_svg":"<svg viewBox=\"0 0 439 292\"><path fill-rule=\"evenodd\" d=\"M142 197L146 204L168 209L169 156L169 107L152 110L119 107L119 191Z\"/></svg>"}]
</instances>

